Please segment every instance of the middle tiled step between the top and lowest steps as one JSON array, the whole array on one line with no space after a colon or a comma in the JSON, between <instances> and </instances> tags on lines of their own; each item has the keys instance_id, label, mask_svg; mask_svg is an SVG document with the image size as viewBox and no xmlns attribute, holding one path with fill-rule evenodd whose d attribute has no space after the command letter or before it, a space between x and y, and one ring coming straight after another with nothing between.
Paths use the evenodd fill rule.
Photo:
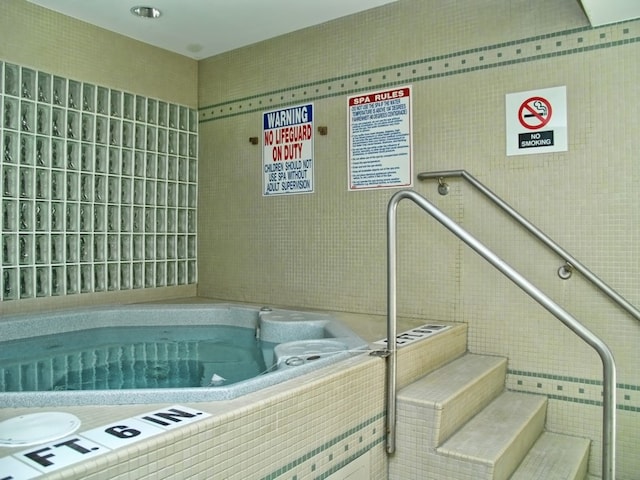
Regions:
<instances>
[{"instance_id":1,"label":"middle tiled step between the top and lowest steps","mask_svg":"<svg viewBox=\"0 0 640 480\"><path fill-rule=\"evenodd\" d=\"M474 479L506 480L542 433L546 407L546 397L504 392L437 452L472 464Z\"/></svg>"}]
</instances>

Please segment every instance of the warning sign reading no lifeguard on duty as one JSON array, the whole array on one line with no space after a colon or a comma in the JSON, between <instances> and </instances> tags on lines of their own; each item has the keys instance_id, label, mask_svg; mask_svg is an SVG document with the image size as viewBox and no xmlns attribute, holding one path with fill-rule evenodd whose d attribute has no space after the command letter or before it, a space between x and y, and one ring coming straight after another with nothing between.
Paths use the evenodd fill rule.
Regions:
<instances>
[{"instance_id":1,"label":"warning sign reading no lifeguard on duty","mask_svg":"<svg viewBox=\"0 0 640 480\"><path fill-rule=\"evenodd\" d=\"M262 195L313 192L313 104L262 114Z\"/></svg>"}]
</instances>

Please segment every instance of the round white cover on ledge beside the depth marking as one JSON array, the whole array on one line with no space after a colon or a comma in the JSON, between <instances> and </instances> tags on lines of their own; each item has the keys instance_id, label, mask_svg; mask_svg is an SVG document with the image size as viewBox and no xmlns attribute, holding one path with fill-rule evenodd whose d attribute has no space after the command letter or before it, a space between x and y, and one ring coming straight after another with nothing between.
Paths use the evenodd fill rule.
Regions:
<instances>
[{"instance_id":1,"label":"round white cover on ledge beside the depth marking","mask_svg":"<svg viewBox=\"0 0 640 480\"><path fill-rule=\"evenodd\" d=\"M29 446L70 435L80 427L80 419L63 412L20 415L0 422L0 446Z\"/></svg>"}]
</instances>

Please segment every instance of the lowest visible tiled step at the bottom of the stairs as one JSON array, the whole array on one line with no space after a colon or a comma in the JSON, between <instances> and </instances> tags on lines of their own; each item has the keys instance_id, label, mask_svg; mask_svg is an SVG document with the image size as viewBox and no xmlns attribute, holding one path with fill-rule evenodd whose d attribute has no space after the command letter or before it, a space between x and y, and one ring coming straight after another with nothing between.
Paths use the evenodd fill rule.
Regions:
<instances>
[{"instance_id":1,"label":"lowest visible tiled step at the bottom of the stairs","mask_svg":"<svg viewBox=\"0 0 640 480\"><path fill-rule=\"evenodd\" d=\"M543 433L510 480L584 480L590 441Z\"/></svg>"}]
</instances>

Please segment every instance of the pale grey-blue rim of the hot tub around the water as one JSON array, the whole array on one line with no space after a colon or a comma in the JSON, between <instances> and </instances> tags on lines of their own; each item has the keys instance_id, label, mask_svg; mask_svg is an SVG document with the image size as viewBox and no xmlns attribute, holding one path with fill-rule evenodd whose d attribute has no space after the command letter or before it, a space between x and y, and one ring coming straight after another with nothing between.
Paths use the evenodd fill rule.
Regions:
<instances>
[{"instance_id":1,"label":"pale grey-blue rim of the hot tub around the water","mask_svg":"<svg viewBox=\"0 0 640 480\"><path fill-rule=\"evenodd\" d=\"M238 396L279 383L320 368L324 364L346 358L350 352L362 351L367 344L335 317L327 313L306 312L285 309L259 311L255 306L230 303L212 304L173 304L173 305L120 305L101 306L91 309L61 310L50 314L26 314L8 316L0 319L0 333L3 340L15 340L30 337L31 332L39 334L63 333L87 328L114 325L161 326L173 325L234 325L256 328L256 335L275 343L287 343L294 340L311 338L332 338L343 344L344 351L334 355L323 355L314 362L303 362L296 368L276 369L268 375L258 375L247 381L237 382L216 388L147 388L130 390L68 390L68 391L31 391L32 389L5 391L4 379L11 375L19 378L23 372L33 376L32 372L40 368L39 364L9 365L10 370L0 369L0 401L5 407L60 407L65 405L122 405L155 403L162 398L166 403L209 402L231 400ZM27 333L25 335L25 333ZM42 368L45 364L43 363ZM38 370L39 372L39 370ZM46 376L46 372L45 372ZM208 377L207 377L208 378ZM15 388L15 385L14 385Z\"/></svg>"}]
</instances>

